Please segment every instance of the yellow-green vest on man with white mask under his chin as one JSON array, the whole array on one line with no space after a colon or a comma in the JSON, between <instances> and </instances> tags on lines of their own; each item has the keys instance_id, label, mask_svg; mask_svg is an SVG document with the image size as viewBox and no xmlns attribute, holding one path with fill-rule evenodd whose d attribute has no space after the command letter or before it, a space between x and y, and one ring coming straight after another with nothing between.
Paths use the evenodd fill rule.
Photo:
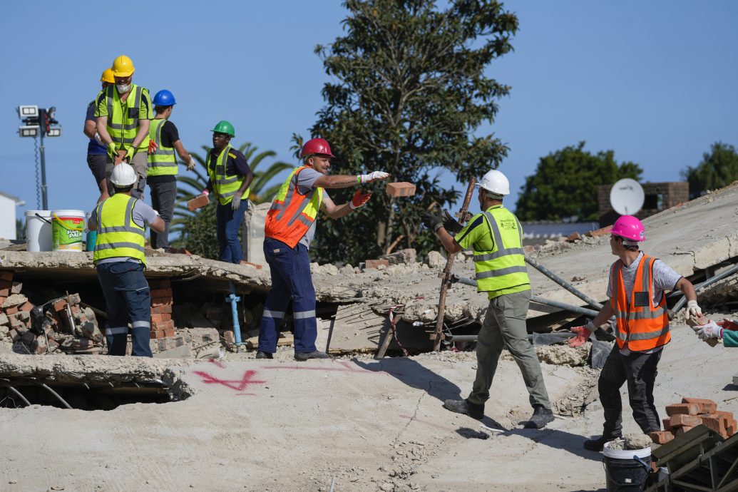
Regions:
<instances>
[{"instance_id":1,"label":"yellow-green vest on man with white mask under his chin","mask_svg":"<svg viewBox=\"0 0 738 492\"><path fill-rule=\"evenodd\" d=\"M105 89L106 104L108 106L108 134L118 150L127 150L134 142L139 127L139 111L141 108L142 94L146 91L131 83L131 91L125 99L120 100L120 94L115 84ZM147 91L148 94L148 91ZM133 101L133 105L130 102ZM138 146L139 150L148 151L148 136Z\"/></svg>"}]
</instances>

